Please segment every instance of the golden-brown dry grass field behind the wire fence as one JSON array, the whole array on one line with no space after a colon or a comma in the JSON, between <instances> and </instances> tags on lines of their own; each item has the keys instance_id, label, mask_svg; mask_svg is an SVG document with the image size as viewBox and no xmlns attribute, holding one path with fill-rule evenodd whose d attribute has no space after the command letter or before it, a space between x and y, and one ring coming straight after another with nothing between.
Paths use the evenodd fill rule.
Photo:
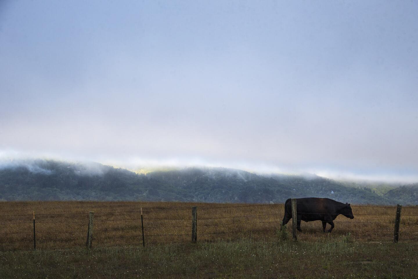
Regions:
<instances>
[{"instance_id":1,"label":"golden-brown dry grass field behind the wire fence","mask_svg":"<svg viewBox=\"0 0 418 279\"><path fill-rule=\"evenodd\" d=\"M209 204L186 202L0 202L0 249L84 246L89 211L94 213L93 246L145 245L191 241L191 207L197 206L197 240L274 238L283 218L283 205ZM350 233L359 241L392 241L396 207L352 205L355 218L336 218L331 235ZM54 215L57 214L57 215ZM6 216L10 215L10 216ZM11 216L14 215L14 216ZM17 216L19 215L19 216ZM245 216L245 217L237 217ZM288 223L290 232L291 222ZM329 225L327 225L329 228ZM302 222L298 239L328 237L321 222ZM400 241L418 238L418 207L403 207Z\"/></svg>"}]
</instances>

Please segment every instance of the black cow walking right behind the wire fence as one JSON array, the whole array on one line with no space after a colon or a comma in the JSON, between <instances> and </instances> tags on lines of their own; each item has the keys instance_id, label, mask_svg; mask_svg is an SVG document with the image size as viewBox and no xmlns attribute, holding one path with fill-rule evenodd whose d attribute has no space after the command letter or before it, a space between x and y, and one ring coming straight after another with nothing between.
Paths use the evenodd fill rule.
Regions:
<instances>
[{"instance_id":1,"label":"black cow walking right behind the wire fence","mask_svg":"<svg viewBox=\"0 0 418 279\"><path fill-rule=\"evenodd\" d=\"M331 225L328 230L334 228L334 221L338 215L344 215L347 218L354 219L353 212L349 203L337 202L335 200L319 197L304 197L296 199L296 219L298 221L298 231L301 230L301 220L305 222L322 221L322 228L326 228L326 223ZM291 199L285 202L285 216L283 217L283 225L286 225L292 218Z\"/></svg>"}]
</instances>

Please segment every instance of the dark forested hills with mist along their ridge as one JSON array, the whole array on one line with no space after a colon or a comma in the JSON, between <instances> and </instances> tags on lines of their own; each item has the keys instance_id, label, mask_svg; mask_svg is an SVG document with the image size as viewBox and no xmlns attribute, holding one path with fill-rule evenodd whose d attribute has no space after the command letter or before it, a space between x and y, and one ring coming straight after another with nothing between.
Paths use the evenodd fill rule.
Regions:
<instances>
[{"instance_id":1,"label":"dark forested hills with mist along their ridge","mask_svg":"<svg viewBox=\"0 0 418 279\"><path fill-rule=\"evenodd\" d=\"M0 200L143 200L281 203L290 197L418 204L418 184L338 182L313 174L254 174L226 168L135 173L99 163L53 160L0 165Z\"/></svg>"}]
</instances>

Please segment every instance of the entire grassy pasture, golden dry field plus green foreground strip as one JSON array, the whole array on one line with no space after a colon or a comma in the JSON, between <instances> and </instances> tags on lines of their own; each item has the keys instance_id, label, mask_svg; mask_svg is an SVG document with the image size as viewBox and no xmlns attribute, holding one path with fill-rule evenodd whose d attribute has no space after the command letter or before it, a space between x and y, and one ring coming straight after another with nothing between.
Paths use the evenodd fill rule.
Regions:
<instances>
[{"instance_id":1,"label":"entire grassy pasture, golden dry field plus green foreground strip","mask_svg":"<svg viewBox=\"0 0 418 279\"><path fill-rule=\"evenodd\" d=\"M196 243L191 243L192 206L197 206ZM290 226L285 234L277 230L283 205L1 202L0 278L418 276L418 209L402 208L396 244L395 207L352 205L352 210L355 218L339 216L331 234L322 233L320 222L302 222L303 233L294 242ZM95 212L91 250L85 248L89 211Z\"/></svg>"}]
</instances>

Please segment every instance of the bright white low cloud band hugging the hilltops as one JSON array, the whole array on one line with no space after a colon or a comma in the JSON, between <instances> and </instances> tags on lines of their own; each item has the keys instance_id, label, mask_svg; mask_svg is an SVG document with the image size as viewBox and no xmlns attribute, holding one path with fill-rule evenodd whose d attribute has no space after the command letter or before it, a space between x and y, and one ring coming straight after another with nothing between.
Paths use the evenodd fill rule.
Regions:
<instances>
[{"instance_id":1,"label":"bright white low cloud band hugging the hilltops","mask_svg":"<svg viewBox=\"0 0 418 279\"><path fill-rule=\"evenodd\" d=\"M60 156L58 154L45 152L48 156L38 152L21 153L18 151L0 151L0 169L25 167L33 173L51 174L53 171L44 169L38 160L55 160L71 163L71 167L79 175L102 175L104 173L103 165L116 168L129 169L131 171L155 171L159 169L183 169L188 167L197 168L228 168L242 171L248 171L263 175L301 175L308 179L314 179L317 176L326 177L334 180L347 180L358 182L388 182L395 184L409 184L418 182L418 175L411 173L393 173L390 171L347 171L344 169L312 167L312 166L277 166L265 164L263 162L248 161L215 161L205 160L197 157L187 158L103 158L93 157L86 159L85 156ZM240 172L237 172L238 176Z\"/></svg>"}]
</instances>

